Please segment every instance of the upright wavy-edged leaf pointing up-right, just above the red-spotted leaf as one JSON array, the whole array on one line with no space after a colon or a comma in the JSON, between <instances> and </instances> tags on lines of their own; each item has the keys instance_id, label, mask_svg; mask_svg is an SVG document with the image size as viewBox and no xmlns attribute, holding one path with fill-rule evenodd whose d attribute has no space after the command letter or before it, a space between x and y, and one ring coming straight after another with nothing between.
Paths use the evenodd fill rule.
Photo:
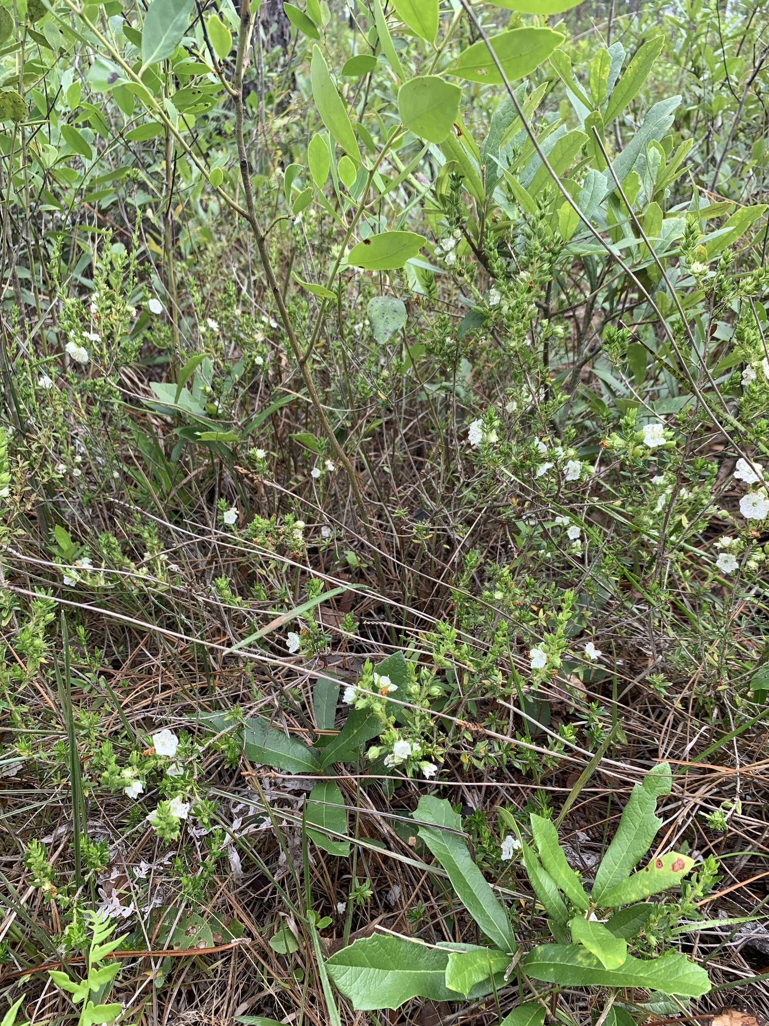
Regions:
<instances>
[{"instance_id":1,"label":"upright wavy-edged leaf pointing up-right, just above the red-spotted leaf","mask_svg":"<svg viewBox=\"0 0 769 1026\"><path fill-rule=\"evenodd\" d=\"M662 821L654 815L657 797L670 794L670 790L671 767L666 762L661 762L647 774L643 784L635 785L617 832L598 867L591 895L594 903L602 905L606 893L626 879L649 851L662 825Z\"/></svg>"}]
</instances>

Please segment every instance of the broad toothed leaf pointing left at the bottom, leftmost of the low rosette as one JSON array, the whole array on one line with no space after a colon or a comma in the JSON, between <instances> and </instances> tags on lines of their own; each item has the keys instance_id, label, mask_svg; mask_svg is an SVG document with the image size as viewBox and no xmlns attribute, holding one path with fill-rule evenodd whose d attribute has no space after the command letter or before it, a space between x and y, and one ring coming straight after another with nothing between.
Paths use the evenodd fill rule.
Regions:
<instances>
[{"instance_id":1,"label":"broad toothed leaf pointing left at the bottom, leftmost of the low rosette","mask_svg":"<svg viewBox=\"0 0 769 1026\"><path fill-rule=\"evenodd\" d=\"M446 986L449 952L393 934L375 934L342 948L326 970L358 1012L398 1009L411 997L456 999Z\"/></svg>"}]
</instances>

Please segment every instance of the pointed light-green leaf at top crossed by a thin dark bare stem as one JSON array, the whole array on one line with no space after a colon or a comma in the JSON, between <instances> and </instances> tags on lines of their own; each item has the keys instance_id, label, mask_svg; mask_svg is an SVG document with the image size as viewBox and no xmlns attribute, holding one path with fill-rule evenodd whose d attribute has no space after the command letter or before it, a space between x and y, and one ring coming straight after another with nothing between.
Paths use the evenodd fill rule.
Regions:
<instances>
[{"instance_id":1,"label":"pointed light-green leaf at top crossed by a thin dark bare stem","mask_svg":"<svg viewBox=\"0 0 769 1026\"><path fill-rule=\"evenodd\" d=\"M530 75L563 40L563 34L553 29L511 29L492 36L489 46L496 54L507 78L516 79ZM447 73L469 82L483 82L487 85L503 83L483 39L460 53L453 65L448 67Z\"/></svg>"}]
</instances>

